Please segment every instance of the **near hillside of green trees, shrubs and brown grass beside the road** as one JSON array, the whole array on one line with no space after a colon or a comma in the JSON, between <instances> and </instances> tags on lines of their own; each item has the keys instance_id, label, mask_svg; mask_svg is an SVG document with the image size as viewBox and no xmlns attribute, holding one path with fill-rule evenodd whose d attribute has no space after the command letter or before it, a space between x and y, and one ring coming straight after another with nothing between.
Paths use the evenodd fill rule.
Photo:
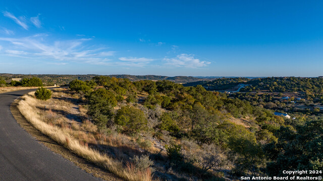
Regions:
<instances>
[{"instance_id":1,"label":"near hillside of green trees, shrubs and brown grass beside the road","mask_svg":"<svg viewBox=\"0 0 323 181\"><path fill-rule=\"evenodd\" d=\"M42 102L46 109L34 104L43 122L123 165L121 172L146 175L142 179L225 180L322 169L322 119L275 116L261 104L201 85L95 76L75 79L52 97ZM284 159L294 161L282 166Z\"/></svg>"}]
</instances>

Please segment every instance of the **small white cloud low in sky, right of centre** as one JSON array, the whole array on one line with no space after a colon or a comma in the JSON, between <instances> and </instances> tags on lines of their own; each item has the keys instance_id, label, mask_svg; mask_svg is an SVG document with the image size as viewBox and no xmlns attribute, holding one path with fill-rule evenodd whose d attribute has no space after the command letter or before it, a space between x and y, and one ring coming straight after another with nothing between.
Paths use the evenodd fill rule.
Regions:
<instances>
[{"instance_id":1,"label":"small white cloud low in sky, right of centre","mask_svg":"<svg viewBox=\"0 0 323 181\"><path fill-rule=\"evenodd\" d=\"M210 64L208 61L201 61L198 58L194 58L194 55L185 53L179 54L174 58L164 58L164 60L167 62L167 65L186 68L200 68Z\"/></svg>"}]
</instances>

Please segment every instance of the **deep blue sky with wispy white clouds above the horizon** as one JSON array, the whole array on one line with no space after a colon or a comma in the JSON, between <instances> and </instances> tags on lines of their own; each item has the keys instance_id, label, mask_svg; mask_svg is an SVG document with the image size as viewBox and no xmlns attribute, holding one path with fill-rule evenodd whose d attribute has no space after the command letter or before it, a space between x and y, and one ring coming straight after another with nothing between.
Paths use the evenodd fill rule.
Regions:
<instances>
[{"instance_id":1,"label":"deep blue sky with wispy white clouds above the horizon","mask_svg":"<svg viewBox=\"0 0 323 181\"><path fill-rule=\"evenodd\" d=\"M323 1L0 1L0 72L323 75Z\"/></svg>"}]
</instances>

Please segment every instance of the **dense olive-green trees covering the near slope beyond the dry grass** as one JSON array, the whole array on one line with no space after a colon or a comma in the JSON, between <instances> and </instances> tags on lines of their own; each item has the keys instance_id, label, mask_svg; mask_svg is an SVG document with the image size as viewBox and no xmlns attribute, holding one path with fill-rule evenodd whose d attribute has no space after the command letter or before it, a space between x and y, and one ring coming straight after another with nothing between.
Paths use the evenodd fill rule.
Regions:
<instances>
[{"instance_id":1,"label":"dense olive-green trees covering the near slope beyond the dry grass","mask_svg":"<svg viewBox=\"0 0 323 181\"><path fill-rule=\"evenodd\" d=\"M210 173L214 165L219 169L226 161L234 165L233 175L273 172L272 167L266 165L277 162L274 158L278 156L273 156L273 150L278 143L285 144L281 141L282 131L290 128L298 132L294 127L305 123L305 119L291 122L274 116L273 111L258 104L259 100L253 103L228 98L227 94L206 91L201 85L183 86L168 80L132 82L96 76L90 81L73 80L69 87L84 95L88 115L99 129L115 128L127 135L149 133L155 138L169 133L178 140L192 140L201 148L215 146L225 153L226 158L222 159L218 159L218 151L214 150L205 152L208 158L196 157L181 152L182 145L176 141L168 143L169 159L177 171L200 176ZM232 120L244 122L241 125ZM201 169L189 169L196 164L201 165ZM297 165L291 168L296 169Z\"/></svg>"}]
</instances>

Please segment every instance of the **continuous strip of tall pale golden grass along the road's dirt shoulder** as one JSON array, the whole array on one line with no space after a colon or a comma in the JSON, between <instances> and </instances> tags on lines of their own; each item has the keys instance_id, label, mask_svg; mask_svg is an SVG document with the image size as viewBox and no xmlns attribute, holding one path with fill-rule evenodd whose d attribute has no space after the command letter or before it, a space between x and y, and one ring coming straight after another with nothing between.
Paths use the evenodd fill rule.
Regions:
<instances>
[{"instance_id":1,"label":"continuous strip of tall pale golden grass along the road's dirt shoulder","mask_svg":"<svg viewBox=\"0 0 323 181\"><path fill-rule=\"evenodd\" d=\"M152 173L150 168L146 171L138 171L132 165L123 166L122 162L111 158L105 154L99 153L97 150L89 148L87 144L75 139L64 127L47 124L45 118L41 117L37 106L42 105L43 101L36 100L33 93L29 93L22 97L23 100L19 102L18 109L21 114L39 131L49 136L58 143L64 145L77 155L86 158L96 165L105 168L106 170L118 175L125 180L133 181L150 181L152 180Z\"/></svg>"}]
</instances>

